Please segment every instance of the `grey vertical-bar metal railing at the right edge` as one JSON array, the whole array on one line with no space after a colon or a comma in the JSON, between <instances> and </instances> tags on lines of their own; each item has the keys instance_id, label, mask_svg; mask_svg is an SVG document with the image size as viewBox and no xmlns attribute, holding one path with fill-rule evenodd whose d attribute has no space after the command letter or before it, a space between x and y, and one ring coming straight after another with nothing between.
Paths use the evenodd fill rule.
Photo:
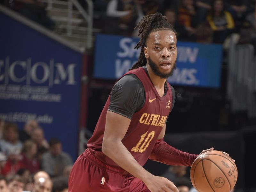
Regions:
<instances>
[{"instance_id":1,"label":"grey vertical-bar metal railing at the right edge","mask_svg":"<svg viewBox=\"0 0 256 192\"><path fill-rule=\"evenodd\" d=\"M231 111L256 117L256 58L251 44L236 45L231 36L228 54L227 97Z\"/></svg>"}]
</instances>

